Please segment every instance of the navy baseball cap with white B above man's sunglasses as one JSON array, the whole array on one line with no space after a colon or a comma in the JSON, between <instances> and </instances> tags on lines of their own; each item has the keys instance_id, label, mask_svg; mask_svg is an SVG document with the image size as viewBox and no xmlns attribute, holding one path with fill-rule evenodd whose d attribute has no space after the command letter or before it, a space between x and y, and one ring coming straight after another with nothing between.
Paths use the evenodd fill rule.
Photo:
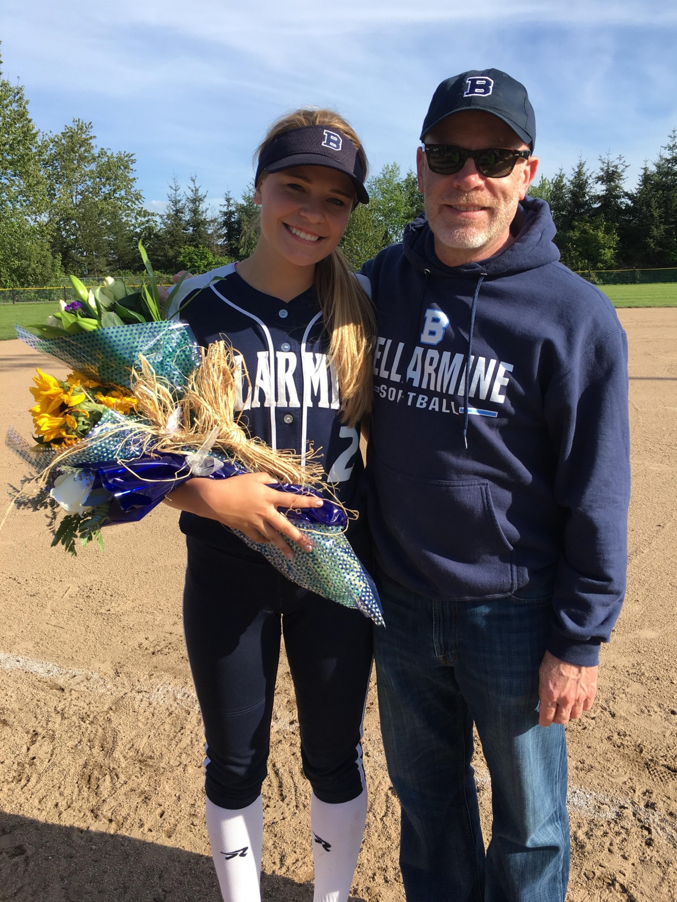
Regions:
<instances>
[{"instance_id":1,"label":"navy baseball cap with white B above man's sunglasses","mask_svg":"<svg viewBox=\"0 0 677 902\"><path fill-rule=\"evenodd\" d=\"M497 116L533 150L536 117L526 88L500 69L470 69L441 82L423 121L421 140L448 115L482 110Z\"/></svg>"}]
</instances>

